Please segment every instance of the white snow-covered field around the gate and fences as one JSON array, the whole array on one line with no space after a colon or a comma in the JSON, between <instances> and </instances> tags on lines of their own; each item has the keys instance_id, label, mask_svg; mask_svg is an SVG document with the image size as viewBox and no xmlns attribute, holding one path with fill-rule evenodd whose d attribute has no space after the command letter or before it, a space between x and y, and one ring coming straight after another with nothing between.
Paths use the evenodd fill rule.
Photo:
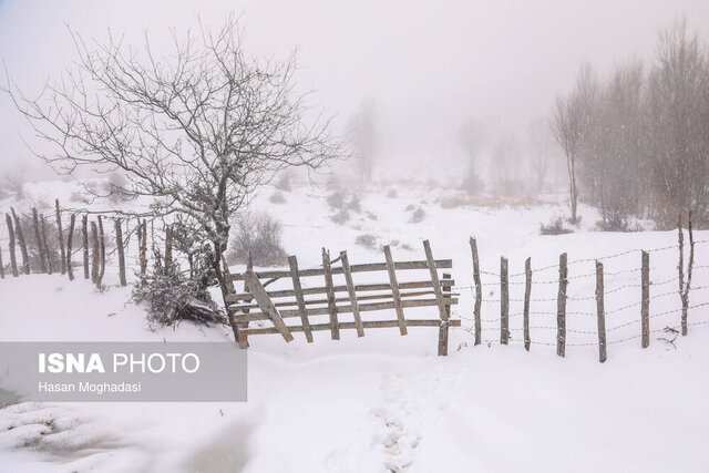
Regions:
<instances>
[{"instance_id":1,"label":"white snow-covered field around the gate and fences","mask_svg":"<svg viewBox=\"0 0 709 473\"><path fill-rule=\"evenodd\" d=\"M391 191L395 191L391 193ZM35 197L55 196L70 205L69 183L31 187ZM597 361L593 277L569 284L566 358L554 342L555 284L534 287L532 350L520 345L521 317L511 317L512 345L473 347L474 298L469 237L475 236L482 268L497 273L500 256L510 271L556 265L568 253L569 277L593 274L593 258L636 248L676 244L676 232L613 234L590 232L598 219L582 207L582 228L572 235L540 236L541 223L566 212L562 196L530 206L480 205L475 199L417 184L380 184L360 195L361 212L345 224L326 202L331 191L308 186L284 192L286 203L270 204L266 191L251 204L284 224L284 246L301 267L320 263L320 248L347 249L351 263L383 260L380 245L391 244L395 259L422 259L430 239L436 258L453 259L455 317L450 356L436 357L436 330L369 330L341 341L299 333L286 345L280 337L250 338L249 401L246 403L19 403L0 410L0 471L101 472L469 472L469 471L706 471L709 451L709 326L690 327L677 348L653 333L640 349L637 305L639 251L604 260L609 311L608 361ZM2 203L7 208L10 203ZM412 206L412 207L410 207ZM407 210L407 208L410 208ZM410 223L421 208L425 217ZM356 245L372 235L373 249ZM696 239L709 232L696 232ZM135 255L127 255L135 263ZM586 261L585 259L590 258ZM697 246L698 266L709 265L709 245ZM651 253L651 315L679 307L677 249ZM234 267L237 271L240 267ZM615 276L612 273L618 273ZM698 269L693 284L709 282ZM535 274L554 280L556 268ZM538 278L538 279L537 279ZM520 281L512 278L511 281ZM130 288L116 286L106 270L109 290L97 292L83 279L32 275L0 281L0 340L230 340L226 328L202 330L188 323L146 330L141 308L125 304ZM484 299L499 298L494 276L483 275ZM617 291L614 288L620 288ZM520 298L524 286L511 286ZM698 290L690 305L709 297ZM512 301L511 313L521 304ZM574 313L577 312L577 313ZM483 304L483 338L499 339L499 304ZM706 308L690 311L690 322L709 320ZM624 325L627 323L627 325ZM677 326L679 313L658 316L651 329ZM551 327L546 328L546 327ZM572 331L574 330L574 331ZM586 333L588 332L588 333ZM536 343L535 343L536 342ZM589 343L588 346L584 343Z\"/></svg>"}]
</instances>

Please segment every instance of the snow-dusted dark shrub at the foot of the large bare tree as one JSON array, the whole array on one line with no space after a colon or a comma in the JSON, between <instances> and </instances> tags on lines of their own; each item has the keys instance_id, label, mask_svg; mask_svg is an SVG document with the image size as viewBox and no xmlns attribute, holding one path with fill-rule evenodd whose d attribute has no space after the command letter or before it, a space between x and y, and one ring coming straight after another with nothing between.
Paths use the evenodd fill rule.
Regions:
<instances>
[{"instance_id":1,"label":"snow-dusted dark shrub at the foot of the large bare tree","mask_svg":"<svg viewBox=\"0 0 709 473\"><path fill-rule=\"evenodd\" d=\"M209 326L226 319L209 296L205 274L189 278L173 263L167 268L154 251L153 269L133 286L131 300L145 308L151 329L174 327L183 320Z\"/></svg>"}]
</instances>

